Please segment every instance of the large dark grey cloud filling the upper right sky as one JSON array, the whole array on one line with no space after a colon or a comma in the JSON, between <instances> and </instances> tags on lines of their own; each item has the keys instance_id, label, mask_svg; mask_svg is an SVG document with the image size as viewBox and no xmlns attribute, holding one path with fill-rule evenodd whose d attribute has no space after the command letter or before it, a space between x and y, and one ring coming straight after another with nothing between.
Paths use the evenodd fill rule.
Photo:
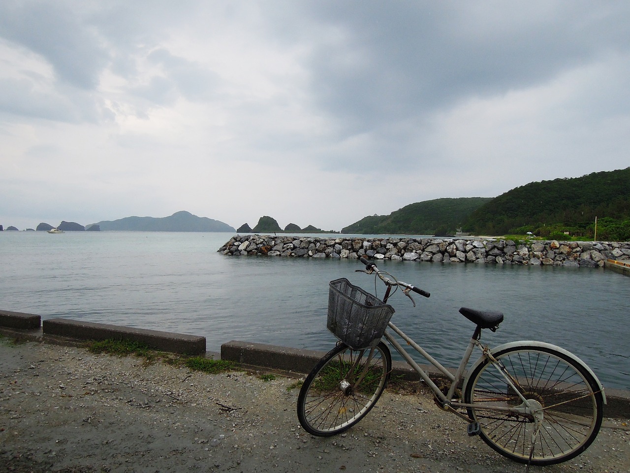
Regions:
<instances>
[{"instance_id":1,"label":"large dark grey cloud filling the upper right sky","mask_svg":"<svg viewBox=\"0 0 630 473\"><path fill-rule=\"evenodd\" d=\"M359 127L540 85L630 48L630 7L619 3L333 1L305 15L340 32L312 54L312 90Z\"/></svg>"}]
</instances>

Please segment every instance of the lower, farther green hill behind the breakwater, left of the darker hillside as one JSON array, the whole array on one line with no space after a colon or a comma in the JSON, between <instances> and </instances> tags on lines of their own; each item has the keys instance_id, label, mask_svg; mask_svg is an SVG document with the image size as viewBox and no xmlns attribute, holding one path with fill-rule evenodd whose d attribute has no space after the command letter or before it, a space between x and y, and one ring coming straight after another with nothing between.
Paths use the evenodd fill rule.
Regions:
<instances>
[{"instance_id":1,"label":"lower, farther green hill behind the breakwater, left of the darker hillside","mask_svg":"<svg viewBox=\"0 0 630 473\"><path fill-rule=\"evenodd\" d=\"M374 215L341 229L360 235L452 235L469 214L492 197L435 199L404 206L389 215Z\"/></svg>"}]
</instances>

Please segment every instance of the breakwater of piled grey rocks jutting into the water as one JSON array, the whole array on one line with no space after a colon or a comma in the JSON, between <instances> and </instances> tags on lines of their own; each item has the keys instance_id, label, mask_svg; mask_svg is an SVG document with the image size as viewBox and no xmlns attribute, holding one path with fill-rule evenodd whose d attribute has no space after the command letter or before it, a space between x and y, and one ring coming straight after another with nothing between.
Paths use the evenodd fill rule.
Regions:
<instances>
[{"instance_id":1,"label":"breakwater of piled grey rocks jutting into the water","mask_svg":"<svg viewBox=\"0 0 630 473\"><path fill-rule=\"evenodd\" d=\"M630 260L630 242L515 241L492 238L361 238L235 235L218 250L224 255L358 258L438 263L604 266Z\"/></svg>"}]
</instances>

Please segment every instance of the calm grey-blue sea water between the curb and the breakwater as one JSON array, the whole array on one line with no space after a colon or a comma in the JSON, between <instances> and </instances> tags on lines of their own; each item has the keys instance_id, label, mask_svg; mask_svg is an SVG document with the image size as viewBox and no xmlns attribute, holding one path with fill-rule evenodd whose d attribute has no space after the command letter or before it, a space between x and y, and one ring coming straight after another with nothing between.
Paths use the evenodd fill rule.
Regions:
<instances>
[{"instance_id":1,"label":"calm grey-blue sea water between the curb and the breakwater","mask_svg":"<svg viewBox=\"0 0 630 473\"><path fill-rule=\"evenodd\" d=\"M0 232L0 308L201 335L210 351L231 340L327 350L328 282L374 292L357 260L224 257L231 233ZM505 313L491 346L541 340L577 354L604 385L630 389L630 278L604 269L381 262L430 291L390 299L394 322L447 366L473 324L466 306ZM382 296L382 284L377 295ZM455 347L452 349L452 347Z\"/></svg>"}]
</instances>

